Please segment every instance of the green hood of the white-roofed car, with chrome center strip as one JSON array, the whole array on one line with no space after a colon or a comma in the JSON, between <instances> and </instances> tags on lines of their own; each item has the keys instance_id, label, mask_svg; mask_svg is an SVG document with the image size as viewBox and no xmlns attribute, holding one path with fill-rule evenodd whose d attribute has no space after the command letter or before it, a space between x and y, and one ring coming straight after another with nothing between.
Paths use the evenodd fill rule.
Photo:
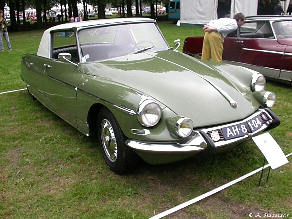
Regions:
<instances>
[{"instance_id":1,"label":"green hood of the white-roofed car, with chrome center strip","mask_svg":"<svg viewBox=\"0 0 292 219\"><path fill-rule=\"evenodd\" d=\"M222 63L205 63L212 67L178 51L167 50L81 63L79 70L95 74L96 80L152 97L175 114L192 119L194 127L237 121L259 108L249 86L251 72ZM233 73L245 81L237 80ZM237 102L237 108L231 106L224 92Z\"/></svg>"}]
</instances>

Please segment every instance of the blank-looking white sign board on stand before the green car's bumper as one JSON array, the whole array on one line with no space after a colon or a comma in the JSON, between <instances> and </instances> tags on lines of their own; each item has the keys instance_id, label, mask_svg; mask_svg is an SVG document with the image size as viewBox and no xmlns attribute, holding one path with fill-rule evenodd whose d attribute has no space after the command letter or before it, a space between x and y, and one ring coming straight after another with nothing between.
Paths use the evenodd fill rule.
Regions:
<instances>
[{"instance_id":1,"label":"blank-looking white sign board on stand before the green car's bumper","mask_svg":"<svg viewBox=\"0 0 292 219\"><path fill-rule=\"evenodd\" d=\"M273 170L288 164L288 159L270 133L267 132L253 137L252 139L264 154Z\"/></svg>"}]
</instances>

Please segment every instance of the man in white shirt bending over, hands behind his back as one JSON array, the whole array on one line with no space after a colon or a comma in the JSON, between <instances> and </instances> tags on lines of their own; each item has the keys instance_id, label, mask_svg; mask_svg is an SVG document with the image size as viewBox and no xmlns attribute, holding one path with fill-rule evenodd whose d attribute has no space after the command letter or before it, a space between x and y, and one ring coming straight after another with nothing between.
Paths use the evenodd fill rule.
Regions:
<instances>
[{"instance_id":1,"label":"man in white shirt bending over, hands behind his back","mask_svg":"<svg viewBox=\"0 0 292 219\"><path fill-rule=\"evenodd\" d=\"M241 27L246 17L242 13L237 13L234 18L220 18L211 20L204 25L203 30L206 31L203 41L202 60L222 62L223 43L227 34Z\"/></svg>"}]
</instances>

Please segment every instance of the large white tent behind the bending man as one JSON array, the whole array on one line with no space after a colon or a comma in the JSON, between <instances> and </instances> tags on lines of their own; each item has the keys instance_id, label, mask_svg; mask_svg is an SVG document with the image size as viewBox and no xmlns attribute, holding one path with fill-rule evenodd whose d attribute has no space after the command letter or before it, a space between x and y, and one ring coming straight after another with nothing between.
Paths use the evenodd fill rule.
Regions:
<instances>
[{"instance_id":1,"label":"large white tent behind the bending man","mask_svg":"<svg viewBox=\"0 0 292 219\"><path fill-rule=\"evenodd\" d=\"M217 8L218 0L180 0L180 23L206 24L218 18ZM231 0L230 18L239 12L246 16L256 15L257 11L258 0Z\"/></svg>"}]
</instances>

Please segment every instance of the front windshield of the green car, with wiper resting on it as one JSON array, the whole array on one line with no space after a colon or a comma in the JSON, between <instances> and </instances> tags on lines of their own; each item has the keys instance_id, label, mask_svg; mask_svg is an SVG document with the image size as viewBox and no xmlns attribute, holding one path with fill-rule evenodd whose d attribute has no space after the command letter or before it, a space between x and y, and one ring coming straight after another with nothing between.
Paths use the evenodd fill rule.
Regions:
<instances>
[{"instance_id":1,"label":"front windshield of the green car, with wiper resting on it","mask_svg":"<svg viewBox=\"0 0 292 219\"><path fill-rule=\"evenodd\" d=\"M78 39L82 62L116 58L145 51L160 51L168 48L166 41L154 23L83 29L78 32Z\"/></svg>"}]
</instances>

